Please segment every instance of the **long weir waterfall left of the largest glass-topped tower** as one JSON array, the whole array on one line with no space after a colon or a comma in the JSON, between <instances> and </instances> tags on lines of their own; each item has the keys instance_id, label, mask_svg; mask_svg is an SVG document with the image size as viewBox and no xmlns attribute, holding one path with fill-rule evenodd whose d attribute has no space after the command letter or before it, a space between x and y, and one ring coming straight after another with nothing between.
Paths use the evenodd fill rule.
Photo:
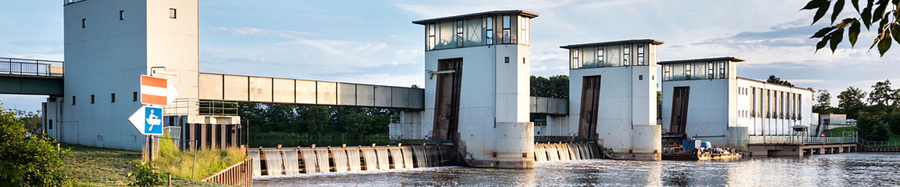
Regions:
<instances>
[{"instance_id":1,"label":"long weir waterfall left of the largest glass-topped tower","mask_svg":"<svg viewBox=\"0 0 900 187\"><path fill-rule=\"evenodd\" d=\"M253 175L341 173L448 166L448 146L372 146L248 149Z\"/></svg>"}]
</instances>

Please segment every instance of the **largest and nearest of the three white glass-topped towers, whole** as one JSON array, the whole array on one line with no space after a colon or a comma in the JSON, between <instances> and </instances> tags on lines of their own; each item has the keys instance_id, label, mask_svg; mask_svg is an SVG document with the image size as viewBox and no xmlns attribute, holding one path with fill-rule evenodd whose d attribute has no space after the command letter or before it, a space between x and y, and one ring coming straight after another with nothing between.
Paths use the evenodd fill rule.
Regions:
<instances>
[{"instance_id":1,"label":"largest and nearest of the three white glass-topped towers, whole","mask_svg":"<svg viewBox=\"0 0 900 187\"><path fill-rule=\"evenodd\" d=\"M464 165L534 166L528 21L493 11L413 21L425 26L422 137L454 143Z\"/></svg>"}]
</instances>

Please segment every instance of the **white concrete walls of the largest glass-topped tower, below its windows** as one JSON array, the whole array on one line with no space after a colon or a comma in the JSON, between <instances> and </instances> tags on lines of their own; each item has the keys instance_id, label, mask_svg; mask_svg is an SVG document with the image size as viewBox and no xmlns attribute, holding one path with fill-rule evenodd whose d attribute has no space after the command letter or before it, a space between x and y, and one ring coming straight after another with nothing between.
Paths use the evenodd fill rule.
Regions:
<instances>
[{"instance_id":1,"label":"white concrete walls of the largest glass-topped tower, below its windows","mask_svg":"<svg viewBox=\"0 0 900 187\"><path fill-rule=\"evenodd\" d=\"M509 57L509 64L505 57ZM529 114L528 47L496 45L426 51L425 69L437 71L440 59L463 58L459 134L464 160L473 166L531 167L534 149ZM524 58L524 63L523 63ZM437 79L425 72L423 139L430 138ZM493 96L493 97L491 97ZM493 153L497 157L493 157Z\"/></svg>"}]
</instances>

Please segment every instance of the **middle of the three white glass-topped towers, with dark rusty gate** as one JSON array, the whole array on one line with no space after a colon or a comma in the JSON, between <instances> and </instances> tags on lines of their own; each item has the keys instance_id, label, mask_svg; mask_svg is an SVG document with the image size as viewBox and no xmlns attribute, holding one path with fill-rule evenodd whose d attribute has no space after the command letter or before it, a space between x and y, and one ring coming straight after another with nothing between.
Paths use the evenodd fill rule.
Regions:
<instances>
[{"instance_id":1,"label":"middle of the three white glass-topped towers, with dark rusty gate","mask_svg":"<svg viewBox=\"0 0 900 187\"><path fill-rule=\"evenodd\" d=\"M656 124L656 46L634 39L569 49L569 134L595 141L607 157L662 159Z\"/></svg>"}]
</instances>

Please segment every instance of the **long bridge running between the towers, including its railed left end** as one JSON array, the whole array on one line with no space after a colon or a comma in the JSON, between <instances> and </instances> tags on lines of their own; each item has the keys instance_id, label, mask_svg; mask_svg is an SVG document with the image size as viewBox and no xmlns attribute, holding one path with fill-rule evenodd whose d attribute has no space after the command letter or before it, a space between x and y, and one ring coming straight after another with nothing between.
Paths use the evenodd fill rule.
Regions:
<instances>
[{"instance_id":1,"label":"long bridge running between the towers, including its railed left end","mask_svg":"<svg viewBox=\"0 0 900 187\"><path fill-rule=\"evenodd\" d=\"M425 109L425 89L206 72L198 76L200 100ZM0 58L0 94L62 96L64 77L61 61ZM530 101L532 114L569 113L568 99Z\"/></svg>"}]
</instances>

